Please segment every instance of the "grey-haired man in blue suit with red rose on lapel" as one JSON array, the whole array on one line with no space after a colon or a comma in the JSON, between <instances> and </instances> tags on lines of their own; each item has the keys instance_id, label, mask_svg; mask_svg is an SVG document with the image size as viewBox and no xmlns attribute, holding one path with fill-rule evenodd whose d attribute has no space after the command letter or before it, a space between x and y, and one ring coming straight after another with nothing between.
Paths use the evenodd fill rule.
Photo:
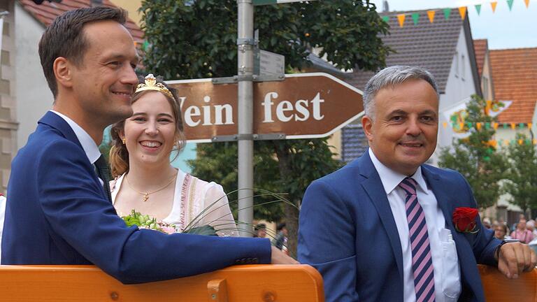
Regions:
<instances>
[{"instance_id":1,"label":"grey-haired man in blue suit with red rose on lapel","mask_svg":"<svg viewBox=\"0 0 537 302\"><path fill-rule=\"evenodd\" d=\"M424 164L438 132L429 72L380 71L364 110L370 149L315 180L300 211L299 261L320 271L327 302L484 301L477 264L508 278L535 267L527 245L503 245L482 227L462 175ZM468 212L477 217L454 225L454 213Z\"/></svg>"}]
</instances>

